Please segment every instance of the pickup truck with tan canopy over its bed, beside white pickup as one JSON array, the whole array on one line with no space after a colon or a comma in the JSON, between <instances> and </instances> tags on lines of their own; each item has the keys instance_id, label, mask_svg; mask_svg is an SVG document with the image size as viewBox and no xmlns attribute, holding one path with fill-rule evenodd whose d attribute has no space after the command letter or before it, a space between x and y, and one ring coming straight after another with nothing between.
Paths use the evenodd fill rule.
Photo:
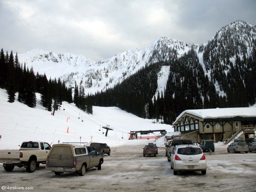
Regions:
<instances>
[{"instance_id":1,"label":"pickup truck with tan canopy over its bed, beside white pickup","mask_svg":"<svg viewBox=\"0 0 256 192\"><path fill-rule=\"evenodd\" d=\"M98 167L101 170L103 156L93 147L74 144L55 144L46 159L45 169L55 175L64 172L77 172L84 176L85 170Z\"/></svg>"}]
</instances>

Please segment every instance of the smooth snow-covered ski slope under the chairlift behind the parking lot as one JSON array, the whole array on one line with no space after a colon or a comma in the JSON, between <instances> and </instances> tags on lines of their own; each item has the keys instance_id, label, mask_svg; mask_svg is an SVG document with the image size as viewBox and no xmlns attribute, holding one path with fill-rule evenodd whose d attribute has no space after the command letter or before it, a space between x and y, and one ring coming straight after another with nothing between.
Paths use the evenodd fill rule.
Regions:
<instances>
[{"instance_id":1,"label":"smooth snow-covered ski slope under the chairlift behind the parking lot","mask_svg":"<svg viewBox=\"0 0 256 192\"><path fill-rule=\"evenodd\" d=\"M39 94L36 96L40 98ZM92 140L114 147L142 142L128 140L130 131L165 129L167 132L173 132L171 125L153 124L151 119L139 118L116 107L94 106L93 115L88 115L73 104L64 102L65 110L62 106L61 110L55 111L52 116L51 112L46 111L39 103L39 99L36 108L29 108L17 100L14 103L7 100L6 90L0 89L0 149L19 149L18 145L26 140L46 141L49 144L56 144L58 140L60 143L80 142L80 136L82 142ZM102 125L107 124L114 130L108 131L108 137L105 137L105 134L102 134Z\"/></svg>"}]
</instances>

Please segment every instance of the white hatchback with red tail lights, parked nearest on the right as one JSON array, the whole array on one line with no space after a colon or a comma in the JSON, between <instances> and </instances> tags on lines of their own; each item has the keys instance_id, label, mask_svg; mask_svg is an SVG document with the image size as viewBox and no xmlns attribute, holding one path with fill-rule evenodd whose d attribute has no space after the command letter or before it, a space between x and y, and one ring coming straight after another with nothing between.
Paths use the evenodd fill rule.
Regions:
<instances>
[{"instance_id":1,"label":"white hatchback with red tail lights, parked nearest on the right","mask_svg":"<svg viewBox=\"0 0 256 192\"><path fill-rule=\"evenodd\" d=\"M178 171L201 171L206 174L206 160L201 148L197 145L176 145L171 155L171 169L173 174Z\"/></svg>"}]
</instances>

